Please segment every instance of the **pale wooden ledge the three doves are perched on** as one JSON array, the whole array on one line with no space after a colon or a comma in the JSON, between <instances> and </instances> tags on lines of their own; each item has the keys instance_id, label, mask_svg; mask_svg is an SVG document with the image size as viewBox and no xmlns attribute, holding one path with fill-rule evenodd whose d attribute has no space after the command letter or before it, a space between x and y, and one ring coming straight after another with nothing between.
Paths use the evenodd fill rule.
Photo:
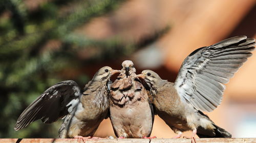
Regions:
<instances>
[{"instance_id":1,"label":"pale wooden ledge the three doves are perched on","mask_svg":"<svg viewBox=\"0 0 256 143\"><path fill-rule=\"evenodd\" d=\"M256 142L256 138L197 138L196 139L197 143L199 142L243 142L243 143L249 143L249 142ZM0 139L0 143L8 143L8 142L13 142L13 143L33 143L33 142L40 142L40 143L46 143L46 142L56 142L56 143L61 143L61 142L69 142L69 143L75 143L79 142L78 139L71 139L71 138L65 138L65 139L60 139L60 138L3 138ZM82 141L80 141L82 142ZM139 139L139 138L127 138L127 139L87 139L87 143L92 143L92 142L106 142L106 143L129 143L129 142L142 142L142 143L167 143L167 142L191 142L191 139L184 139L184 138L179 138L179 139L171 139L171 138L154 138L154 139Z\"/></svg>"}]
</instances>

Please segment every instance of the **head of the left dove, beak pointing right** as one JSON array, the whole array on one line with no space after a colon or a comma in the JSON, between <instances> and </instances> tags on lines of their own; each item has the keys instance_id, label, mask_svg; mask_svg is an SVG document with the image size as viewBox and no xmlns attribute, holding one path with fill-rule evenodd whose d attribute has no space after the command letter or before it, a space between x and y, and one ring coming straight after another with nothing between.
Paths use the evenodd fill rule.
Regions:
<instances>
[{"instance_id":1,"label":"head of the left dove, beak pointing right","mask_svg":"<svg viewBox=\"0 0 256 143\"><path fill-rule=\"evenodd\" d=\"M108 81L111 76L120 73L121 70L112 69L109 66L101 67L93 77L93 81Z\"/></svg>"}]
</instances>

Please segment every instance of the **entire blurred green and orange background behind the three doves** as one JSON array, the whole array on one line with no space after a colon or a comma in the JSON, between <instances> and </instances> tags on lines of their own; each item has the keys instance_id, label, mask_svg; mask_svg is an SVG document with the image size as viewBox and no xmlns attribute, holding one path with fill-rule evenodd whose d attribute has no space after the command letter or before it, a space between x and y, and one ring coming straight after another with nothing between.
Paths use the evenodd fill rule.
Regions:
<instances>
[{"instance_id":1,"label":"entire blurred green and orange background behind the three doves","mask_svg":"<svg viewBox=\"0 0 256 143\"><path fill-rule=\"evenodd\" d=\"M174 82L185 57L228 37L256 38L254 0L1 0L0 138L56 138L62 121L14 131L20 113L51 85L83 87L102 66L133 60ZM206 113L233 137L256 137L256 52ZM113 135L104 120L95 136ZM175 134L156 116L152 136ZM191 132L186 132L190 136Z\"/></svg>"}]
</instances>

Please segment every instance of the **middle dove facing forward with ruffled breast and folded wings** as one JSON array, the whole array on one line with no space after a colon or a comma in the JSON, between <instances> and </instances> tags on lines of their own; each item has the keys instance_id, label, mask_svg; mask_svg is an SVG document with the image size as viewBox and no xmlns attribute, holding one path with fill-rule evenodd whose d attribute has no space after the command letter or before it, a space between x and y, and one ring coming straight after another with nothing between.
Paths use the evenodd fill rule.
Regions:
<instances>
[{"instance_id":1,"label":"middle dove facing forward with ruffled breast and folded wings","mask_svg":"<svg viewBox=\"0 0 256 143\"><path fill-rule=\"evenodd\" d=\"M119 138L151 138L153 106L145 88L134 76L134 63L123 61L120 75L110 86L110 120Z\"/></svg>"}]
</instances>

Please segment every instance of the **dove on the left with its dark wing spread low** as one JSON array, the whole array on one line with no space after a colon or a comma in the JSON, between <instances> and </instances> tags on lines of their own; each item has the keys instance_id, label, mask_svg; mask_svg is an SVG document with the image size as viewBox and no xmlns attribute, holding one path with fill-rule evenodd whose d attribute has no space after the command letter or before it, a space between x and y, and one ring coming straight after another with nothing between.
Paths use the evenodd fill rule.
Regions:
<instances>
[{"instance_id":1,"label":"dove on the left with its dark wing spread low","mask_svg":"<svg viewBox=\"0 0 256 143\"><path fill-rule=\"evenodd\" d=\"M120 70L104 66L83 89L71 80L51 86L20 114L14 129L22 129L38 119L53 123L65 117L59 138L90 138L109 116L110 77L115 73Z\"/></svg>"}]
</instances>

